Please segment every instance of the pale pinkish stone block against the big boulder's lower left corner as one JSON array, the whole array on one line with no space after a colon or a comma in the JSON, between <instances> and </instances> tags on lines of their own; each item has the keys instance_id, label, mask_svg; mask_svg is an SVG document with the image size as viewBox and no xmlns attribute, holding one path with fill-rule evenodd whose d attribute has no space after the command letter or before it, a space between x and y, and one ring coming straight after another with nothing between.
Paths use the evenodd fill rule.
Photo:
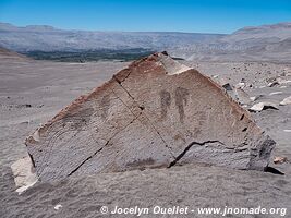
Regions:
<instances>
[{"instance_id":1,"label":"pale pinkish stone block against the big boulder's lower left corner","mask_svg":"<svg viewBox=\"0 0 291 218\"><path fill-rule=\"evenodd\" d=\"M11 165L14 182L19 194L26 191L37 182L37 175L33 167L31 158L24 157Z\"/></svg>"}]
</instances>

